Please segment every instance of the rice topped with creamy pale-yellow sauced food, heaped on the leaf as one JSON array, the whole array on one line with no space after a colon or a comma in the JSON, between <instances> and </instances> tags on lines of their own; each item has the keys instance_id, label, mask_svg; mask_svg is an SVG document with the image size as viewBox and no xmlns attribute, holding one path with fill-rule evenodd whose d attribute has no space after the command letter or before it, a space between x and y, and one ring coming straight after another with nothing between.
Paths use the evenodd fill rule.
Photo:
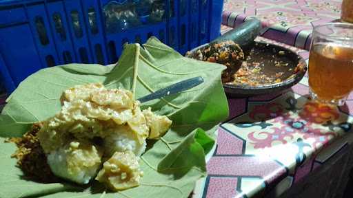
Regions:
<instances>
[{"instance_id":1,"label":"rice topped with creamy pale-yellow sauced food, heaped on the leaf","mask_svg":"<svg viewBox=\"0 0 353 198\"><path fill-rule=\"evenodd\" d=\"M141 111L130 91L105 89L101 84L65 90L61 102L61 111L41 122L39 142L52 173L78 184L88 184L97 175L102 158L114 155L103 165L98 180L114 190L137 186L141 177L137 157L145 152L145 140L161 137L172 125L165 115L154 115L150 108ZM119 177L131 178L118 182L115 175L114 182L105 181L103 175L117 171L111 164L123 167Z\"/></svg>"}]
</instances>

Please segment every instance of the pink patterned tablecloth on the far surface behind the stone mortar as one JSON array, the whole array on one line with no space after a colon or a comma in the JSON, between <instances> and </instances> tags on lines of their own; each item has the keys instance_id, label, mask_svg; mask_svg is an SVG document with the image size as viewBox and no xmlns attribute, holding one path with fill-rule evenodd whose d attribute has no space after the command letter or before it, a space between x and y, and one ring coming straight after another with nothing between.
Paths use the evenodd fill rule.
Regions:
<instances>
[{"instance_id":1,"label":"pink patterned tablecloth on the far surface behind the stone mortar","mask_svg":"<svg viewBox=\"0 0 353 198\"><path fill-rule=\"evenodd\" d=\"M257 17L266 27L262 36L308 50L312 27L340 16L341 0L225 0L222 23L234 28Z\"/></svg>"}]
</instances>

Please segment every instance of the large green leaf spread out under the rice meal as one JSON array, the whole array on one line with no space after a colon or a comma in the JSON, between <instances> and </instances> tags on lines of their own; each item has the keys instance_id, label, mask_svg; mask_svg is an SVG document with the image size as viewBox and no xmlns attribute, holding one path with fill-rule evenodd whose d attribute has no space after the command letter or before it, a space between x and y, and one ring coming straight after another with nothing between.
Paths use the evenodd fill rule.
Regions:
<instances>
[{"instance_id":1,"label":"large green leaf spread out under the rice meal","mask_svg":"<svg viewBox=\"0 0 353 198\"><path fill-rule=\"evenodd\" d=\"M223 65L185 58L155 38L141 47L125 45L116 65L69 64L41 69L19 85L0 115L0 136L19 137L34 122L61 109L63 90L85 83L130 89L135 98L181 80L202 76L205 82L180 94L145 102L154 113L167 115L172 128L157 142L150 141L140 161L141 185L109 192L102 184L88 186L39 184L23 176L10 158L16 146L0 138L0 197L188 197L205 175L205 153L214 145L216 124L228 117L221 83ZM211 137L210 137L211 136Z\"/></svg>"}]
</instances>

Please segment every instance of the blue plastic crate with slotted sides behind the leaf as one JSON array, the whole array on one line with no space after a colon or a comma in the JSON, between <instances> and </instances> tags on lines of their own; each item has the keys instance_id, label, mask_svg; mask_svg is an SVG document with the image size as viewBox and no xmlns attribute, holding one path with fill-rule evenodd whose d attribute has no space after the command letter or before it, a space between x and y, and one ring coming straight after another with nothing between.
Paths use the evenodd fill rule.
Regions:
<instances>
[{"instance_id":1,"label":"blue plastic crate with slotted sides behind the leaf","mask_svg":"<svg viewBox=\"0 0 353 198\"><path fill-rule=\"evenodd\" d=\"M154 14L143 16L138 0L0 1L0 74L8 93L44 67L115 63L125 42L156 36L184 54L219 36L223 0L150 1ZM131 10L118 10L123 3ZM117 22L121 13L134 14L128 28Z\"/></svg>"}]
</instances>

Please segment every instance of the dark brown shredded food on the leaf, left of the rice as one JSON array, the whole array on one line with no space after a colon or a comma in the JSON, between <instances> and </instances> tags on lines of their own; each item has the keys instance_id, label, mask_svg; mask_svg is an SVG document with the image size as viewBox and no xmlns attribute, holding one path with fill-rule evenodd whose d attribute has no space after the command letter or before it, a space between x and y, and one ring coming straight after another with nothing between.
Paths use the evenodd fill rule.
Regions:
<instances>
[{"instance_id":1,"label":"dark brown shredded food on the leaf, left of the rice","mask_svg":"<svg viewBox=\"0 0 353 198\"><path fill-rule=\"evenodd\" d=\"M40 124L33 124L32 129L23 137L12 137L9 142L17 145L17 151L11 157L17 158L17 166L24 175L43 183L53 183L59 179L52 173L43 148L39 143L37 133L41 129Z\"/></svg>"}]
</instances>

